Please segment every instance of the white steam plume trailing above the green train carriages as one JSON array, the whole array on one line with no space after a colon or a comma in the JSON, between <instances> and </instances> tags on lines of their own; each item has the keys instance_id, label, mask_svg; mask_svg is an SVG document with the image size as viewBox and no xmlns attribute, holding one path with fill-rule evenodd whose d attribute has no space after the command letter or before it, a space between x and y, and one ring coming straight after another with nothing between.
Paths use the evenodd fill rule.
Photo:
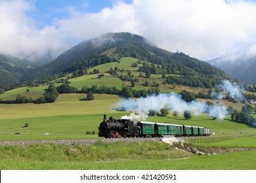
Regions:
<instances>
[{"instance_id":1,"label":"white steam plume trailing above the green train carriages","mask_svg":"<svg viewBox=\"0 0 256 183\"><path fill-rule=\"evenodd\" d=\"M176 110L179 114L182 114L184 110L189 110L195 115L208 113L219 120L223 120L224 116L227 114L226 107L223 105L213 105L209 107L207 104L199 101L187 103L181 99L181 95L175 93L160 93L160 95L150 95L145 98L140 97L139 99L121 99L121 101L114 106L116 110L136 111L139 115L131 114L131 116L126 117L137 120L145 120L150 110L159 112L161 108Z\"/></svg>"}]
</instances>

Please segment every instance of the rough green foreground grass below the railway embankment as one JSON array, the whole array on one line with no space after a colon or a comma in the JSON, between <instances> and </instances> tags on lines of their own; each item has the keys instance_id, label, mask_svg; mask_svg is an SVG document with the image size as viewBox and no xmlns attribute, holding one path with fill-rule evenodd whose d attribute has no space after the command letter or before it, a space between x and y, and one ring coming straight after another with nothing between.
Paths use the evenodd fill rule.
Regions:
<instances>
[{"instance_id":1,"label":"rough green foreground grass below the railway embankment","mask_svg":"<svg viewBox=\"0 0 256 183\"><path fill-rule=\"evenodd\" d=\"M1 169L255 170L256 150L195 156L160 142L0 146ZM5 153L3 153L5 152Z\"/></svg>"}]
</instances>

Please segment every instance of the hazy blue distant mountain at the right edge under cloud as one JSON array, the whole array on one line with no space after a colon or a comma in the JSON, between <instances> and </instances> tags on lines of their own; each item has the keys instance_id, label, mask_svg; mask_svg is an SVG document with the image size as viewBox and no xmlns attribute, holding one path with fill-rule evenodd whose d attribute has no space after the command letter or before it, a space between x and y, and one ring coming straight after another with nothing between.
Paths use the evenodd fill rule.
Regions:
<instances>
[{"instance_id":1,"label":"hazy blue distant mountain at the right edge under cloud","mask_svg":"<svg viewBox=\"0 0 256 183\"><path fill-rule=\"evenodd\" d=\"M207 61L223 69L226 74L247 84L256 85L256 55L250 52L237 52Z\"/></svg>"}]
</instances>

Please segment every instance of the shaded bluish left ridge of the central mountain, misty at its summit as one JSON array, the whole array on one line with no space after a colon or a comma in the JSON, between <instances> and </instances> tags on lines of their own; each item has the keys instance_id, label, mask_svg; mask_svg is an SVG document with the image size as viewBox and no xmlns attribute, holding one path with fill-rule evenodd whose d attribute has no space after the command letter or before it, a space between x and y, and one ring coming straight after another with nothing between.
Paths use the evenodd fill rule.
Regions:
<instances>
[{"instance_id":1,"label":"shaded bluish left ridge of the central mountain, misty at its summit","mask_svg":"<svg viewBox=\"0 0 256 183\"><path fill-rule=\"evenodd\" d=\"M98 50L102 50L106 48L106 46L119 46L121 43L128 43L131 40L139 41L139 39L143 38L130 33L107 33L101 37L90 39L89 41L83 41L73 48L70 48L70 50L64 52L50 63L35 69L30 77L45 78L45 76L48 75L61 73L81 58L97 56Z\"/></svg>"}]
</instances>

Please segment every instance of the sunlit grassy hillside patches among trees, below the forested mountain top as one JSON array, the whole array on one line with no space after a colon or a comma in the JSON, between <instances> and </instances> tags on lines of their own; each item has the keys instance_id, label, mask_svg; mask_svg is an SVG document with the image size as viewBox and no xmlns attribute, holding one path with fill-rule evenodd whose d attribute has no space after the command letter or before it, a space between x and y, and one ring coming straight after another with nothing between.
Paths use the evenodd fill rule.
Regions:
<instances>
[{"instance_id":1,"label":"sunlit grassy hillside patches among trees, below the forested mountain top","mask_svg":"<svg viewBox=\"0 0 256 183\"><path fill-rule=\"evenodd\" d=\"M138 67L131 67L132 63L137 62L138 59L135 58L121 58L120 62L112 62L112 63L104 63L102 65L98 65L96 67L93 67L89 69L89 73L93 71L93 69L99 69L100 73L98 74L91 74L91 75L84 75L79 76L77 78L71 78L70 79L70 86L74 86L75 88L78 88L81 90L83 86L91 87L93 85L96 86L116 86L116 88L121 89L121 86L131 86L130 81L122 81L117 77L110 76L109 73L107 73L112 67L113 69L115 67L118 67L119 69L124 69L125 71L129 70L132 71L132 75L135 76L135 78L139 79L139 83L135 85L135 89L142 90L150 87L154 87L154 82L160 84L160 90L161 92L175 92L178 93L181 90L185 89L191 92L207 92L207 90L204 90L202 88L190 88L188 86L173 86L173 84L162 84L163 78L161 78L161 75L151 75L150 78L145 77L139 77L139 72L137 71L139 69L139 66L142 64L139 64ZM98 75L104 74L105 76L103 78L97 78ZM127 73L121 73L118 72L119 75L127 75ZM167 75L169 76L169 75ZM65 77L66 78L66 77ZM147 80L149 82L149 86L145 87L144 82ZM56 83L55 86L60 86L60 83ZM0 95L0 99L8 100L8 99L16 99L16 96L18 94L22 96L26 96L28 98L32 97L33 99L36 99L37 97L40 97L43 95L44 91L48 88L48 86L37 86L37 87L23 87L23 88L16 88L14 90L5 92ZM30 90L30 92L27 92L27 90Z\"/></svg>"}]
</instances>

